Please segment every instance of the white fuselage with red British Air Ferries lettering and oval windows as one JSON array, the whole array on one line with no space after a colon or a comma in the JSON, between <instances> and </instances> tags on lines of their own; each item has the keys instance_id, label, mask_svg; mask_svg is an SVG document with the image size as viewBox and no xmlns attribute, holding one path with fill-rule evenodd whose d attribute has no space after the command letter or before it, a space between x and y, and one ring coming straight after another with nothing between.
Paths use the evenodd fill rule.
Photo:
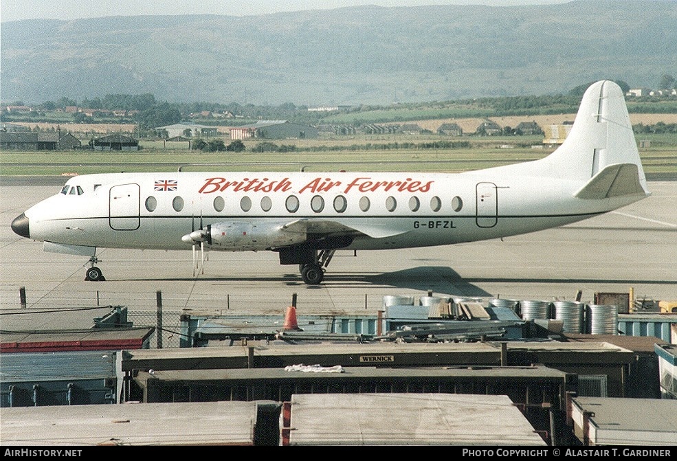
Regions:
<instances>
[{"instance_id":1,"label":"white fuselage with red British Air Ferries lettering and oval windows","mask_svg":"<svg viewBox=\"0 0 677 461\"><path fill-rule=\"evenodd\" d=\"M472 172L104 174L70 179L65 194L25 215L31 238L65 245L190 249L182 236L225 222L253 225L247 232L253 240L211 249L264 250L287 244L276 243L273 229L302 219L357 229L346 249L396 249L524 234L619 206L618 200L577 199L577 187Z\"/></svg>"}]
</instances>

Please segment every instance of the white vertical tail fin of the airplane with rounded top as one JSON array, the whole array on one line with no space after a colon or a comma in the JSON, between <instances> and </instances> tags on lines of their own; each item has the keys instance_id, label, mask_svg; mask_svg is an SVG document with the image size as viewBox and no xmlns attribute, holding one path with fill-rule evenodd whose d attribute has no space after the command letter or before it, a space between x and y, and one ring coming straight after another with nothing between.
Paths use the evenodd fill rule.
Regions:
<instances>
[{"instance_id":1,"label":"white vertical tail fin of the airplane with rounded top","mask_svg":"<svg viewBox=\"0 0 677 461\"><path fill-rule=\"evenodd\" d=\"M544 160L555 177L586 182L597 177L594 187L590 181L579 193L587 194L610 179L616 184L607 191L612 194L625 191L626 186L618 185L621 179L630 181L627 188L636 190L639 184L642 192L647 191L623 91L610 80L590 85L564 143Z\"/></svg>"}]
</instances>

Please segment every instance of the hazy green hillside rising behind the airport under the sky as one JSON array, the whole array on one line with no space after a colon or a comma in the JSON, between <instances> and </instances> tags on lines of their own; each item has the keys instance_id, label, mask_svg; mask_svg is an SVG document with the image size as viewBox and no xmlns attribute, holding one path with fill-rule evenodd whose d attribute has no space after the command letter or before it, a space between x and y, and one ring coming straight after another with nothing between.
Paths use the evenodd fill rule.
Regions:
<instances>
[{"instance_id":1,"label":"hazy green hillside rising behind the airport under the sky","mask_svg":"<svg viewBox=\"0 0 677 461\"><path fill-rule=\"evenodd\" d=\"M677 71L677 3L364 6L2 23L0 97L390 104L566 93Z\"/></svg>"}]
</instances>

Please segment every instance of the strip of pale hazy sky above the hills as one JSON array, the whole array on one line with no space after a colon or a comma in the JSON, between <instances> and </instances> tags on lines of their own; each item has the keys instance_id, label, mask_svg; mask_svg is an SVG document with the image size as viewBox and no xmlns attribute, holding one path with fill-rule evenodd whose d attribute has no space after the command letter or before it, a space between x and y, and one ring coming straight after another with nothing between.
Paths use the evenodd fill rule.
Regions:
<instances>
[{"instance_id":1,"label":"strip of pale hazy sky above the hills","mask_svg":"<svg viewBox=\"0 0 677 461\"><path fill-rule=\"evenodd\" d=\"M0 0L0 21L80 19L146 14L226 14L247 16L282 11L321 10L355 5L530 5L568 0Z\"/></svg>"}]
</instances>

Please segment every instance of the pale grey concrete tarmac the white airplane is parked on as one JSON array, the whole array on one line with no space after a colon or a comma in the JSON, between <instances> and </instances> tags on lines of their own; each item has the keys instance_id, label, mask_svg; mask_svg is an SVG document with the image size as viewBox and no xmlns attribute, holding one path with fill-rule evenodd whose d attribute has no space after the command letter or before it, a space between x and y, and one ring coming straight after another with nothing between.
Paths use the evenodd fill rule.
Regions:
<instances>
[{"instance_id":1,"label":"pale grey concrete tarmac the white airplane is parked on","mask_svg":"<svg viewBox=\"0 0 677 461\"><path fill-rule=\"evenodd\" d=\"M21 238L12 219L55 194L67 178L3 178L0 183L0 308L127 306L153 311L215 309L283 313L294 293L303 314L375 315L384 295L503 297L592 303L595 293L677 299L677 181L652 181L652 196L573 225L503 240L396 251L337 251L324 282L302 282L298 267L272 252L212 251L193 276L190 251L102 249L107 279L85 282L87 258L45 253ZM281 315L281 314L280 314Z\"/></svg>"}]
</instances>

